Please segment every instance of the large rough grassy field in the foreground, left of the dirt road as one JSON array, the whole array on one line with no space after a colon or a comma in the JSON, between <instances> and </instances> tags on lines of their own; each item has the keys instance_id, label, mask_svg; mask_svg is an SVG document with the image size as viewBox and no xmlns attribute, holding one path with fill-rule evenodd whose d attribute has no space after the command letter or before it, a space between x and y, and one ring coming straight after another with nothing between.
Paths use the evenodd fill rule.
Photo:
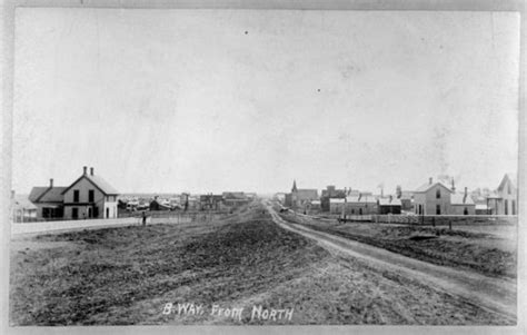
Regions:
<instances>
[{"instance_id":1,"label":"large rough grassy field in the foreground, left of the dirt road","mask_svg":"<svg viewBox=\"0 0 527 335\"><path fill-rule=\"evenodd\" d=\"M12 240L10 273L12 325L514 322L330 254L279 228L256 205L215 223ZM192 303L203 313L163 314L168 303ZM213 305L243 309L239 318L212 315ZM252 317L255 306L292 313L290 319Z\"/></svg>"}]
</instances>

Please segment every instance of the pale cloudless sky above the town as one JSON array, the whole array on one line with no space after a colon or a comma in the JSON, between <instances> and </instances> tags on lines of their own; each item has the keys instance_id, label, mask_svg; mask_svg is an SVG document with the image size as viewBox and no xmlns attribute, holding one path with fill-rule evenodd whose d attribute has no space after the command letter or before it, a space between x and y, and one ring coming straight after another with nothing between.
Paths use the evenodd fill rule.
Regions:
<instances>
[{"instance_id":1,"label":"pale cloudless sky above the town","mask_svg":"<svg viewBox=\"0 0 527 335\"><path fill-rule=\"evenodd\" d=\"M496 188L518 161L519 16L18 8L12 188Z\"/></svg>"}]
</instances>

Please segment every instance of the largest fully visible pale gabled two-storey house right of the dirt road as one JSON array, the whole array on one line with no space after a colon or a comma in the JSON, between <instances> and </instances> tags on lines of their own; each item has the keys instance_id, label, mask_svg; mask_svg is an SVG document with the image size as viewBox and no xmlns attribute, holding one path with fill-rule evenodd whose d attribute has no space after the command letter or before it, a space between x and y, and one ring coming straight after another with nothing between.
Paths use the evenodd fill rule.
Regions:
<instances>
[{"instance_id":1,"label":"largest fully visible pale gabled two-storey house right of the dirt road","mask_svg":"<svg viewBox=\"0 0 527 335\"><path fill-rule=\"evenodd\" d=\"M414 191L414 208L418 215L447 215L450 213L450 195L453 190L441 181L427 184Z\"/></svg>"}]
</instances>

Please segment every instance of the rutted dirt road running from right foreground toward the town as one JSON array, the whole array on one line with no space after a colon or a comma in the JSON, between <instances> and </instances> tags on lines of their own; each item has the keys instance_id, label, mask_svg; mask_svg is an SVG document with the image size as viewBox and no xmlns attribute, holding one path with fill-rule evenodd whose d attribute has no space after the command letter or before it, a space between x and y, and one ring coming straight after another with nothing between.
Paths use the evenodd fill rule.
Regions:
<instances>
[{"instance_id":1,"label":"rutted dirt road running from right foreground toward the town","mask_svg":"<svg viewBox=\"0 0 527 335\"><path fill-rule=\"evenodd\" d=\"M438 266L409 258L355 240L316 231L302 225L285 221L266 204L272 219L280 227L315 239L330 252L365 259L380 272L392 272L418 280L435 289L460 297L476 306L498 313L504 318L516 319L516 280L487 277L470 270Z\"/></svg>"}]
</instances>

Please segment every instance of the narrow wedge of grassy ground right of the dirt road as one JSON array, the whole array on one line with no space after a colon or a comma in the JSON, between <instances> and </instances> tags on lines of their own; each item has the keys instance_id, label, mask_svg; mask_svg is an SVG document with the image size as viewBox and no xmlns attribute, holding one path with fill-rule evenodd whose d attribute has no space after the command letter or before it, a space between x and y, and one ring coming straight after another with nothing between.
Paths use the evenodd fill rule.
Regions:
<instances>
[{"instance_id":1,"label":"narrow wedge of grassy ground right of the dirt road","mask_svg":"<svg viewBox=\"0 0 527 335\"><path fill-rule=\"evenodd\" d=\"M485 234L468 229L372 223L338 224L292 214L281 214L281 217L438 265L470 268L485 275L509 278L515 278L517 273L516 240L500 237L495 231ZM510 230L508 226L501 228Z\"/></svg>"}]
</instances>

